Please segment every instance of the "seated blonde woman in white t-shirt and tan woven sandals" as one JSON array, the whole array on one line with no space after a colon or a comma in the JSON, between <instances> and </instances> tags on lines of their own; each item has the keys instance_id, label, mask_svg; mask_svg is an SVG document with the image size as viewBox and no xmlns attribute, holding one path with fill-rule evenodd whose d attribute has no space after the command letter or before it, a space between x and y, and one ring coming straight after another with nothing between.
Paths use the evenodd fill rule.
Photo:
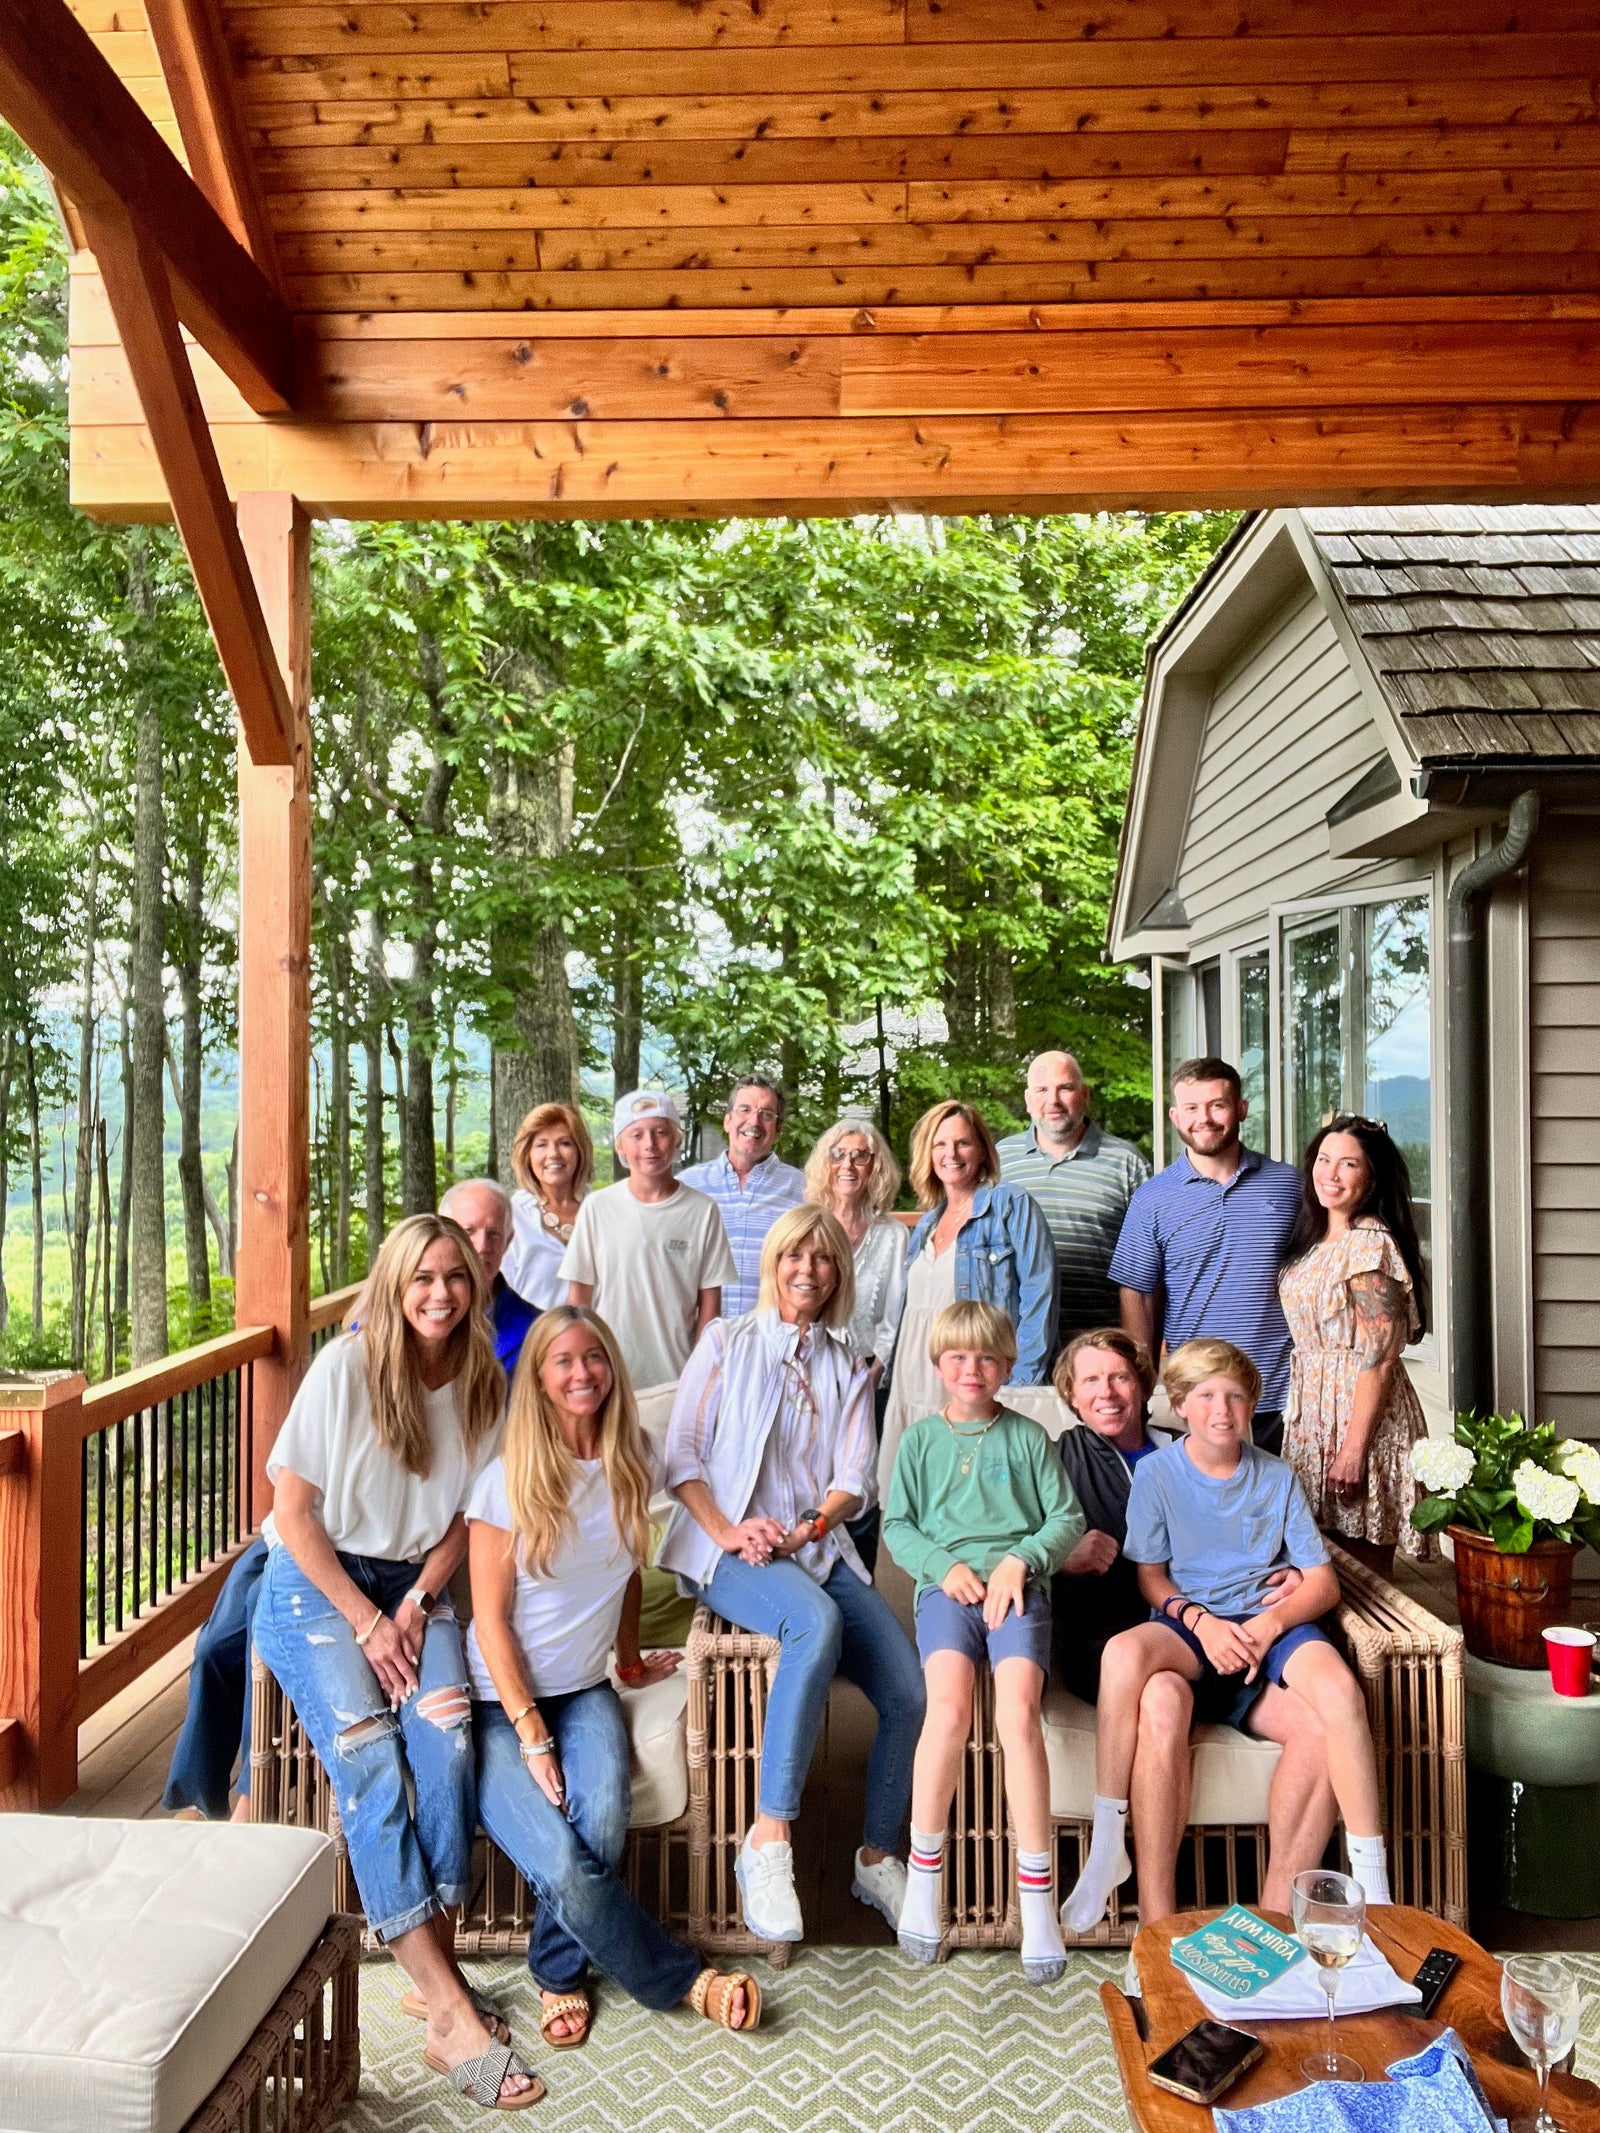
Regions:
<instances>
[{"instance_id":1,"label":"seated blonde woman in white t-shirt and tan woven sandals","mask_svg":"<svg viewBox=\"0 0 1600 2133\"><path fill-rule=\"evenodd\" d=\"M631 1811L627 1726L606 1679L663 1681L678 1653L640 1659L651 1448L604 1318L557 1305L523 1346L506 1448L467 1504L478 1813L538 1892L527 1967L555 2050L589 2035L589 1964L644 2007L687 2001L755 2028L745 1971L704 1969L617 1879Z\"/></svg>"}]
</instances>

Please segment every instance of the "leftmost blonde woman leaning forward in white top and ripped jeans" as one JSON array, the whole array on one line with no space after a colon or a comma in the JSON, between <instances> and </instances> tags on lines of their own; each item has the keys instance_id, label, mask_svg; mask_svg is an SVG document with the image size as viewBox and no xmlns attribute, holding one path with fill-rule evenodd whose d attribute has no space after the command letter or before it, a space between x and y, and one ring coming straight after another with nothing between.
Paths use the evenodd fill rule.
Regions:
<instances>
[{"instance_id":1,"label":"leftmost blonde woman leaning forward in white top and ripped jeans","mask_svg":"<svg viewBox=\"0 0 1600 2133\"><path fill-rule=\"evenodd\" d=\"M412 1979L425 2058L501 2112L544 2084L454 1960L478 1826L471 1702L448 1583L495 1450L506 1374L478 1256L446 1216L378 1250L358 1331L329 1342L273 1444L256 1647L333 1775L367 1922Z\"/></svg>"}]
</instances>

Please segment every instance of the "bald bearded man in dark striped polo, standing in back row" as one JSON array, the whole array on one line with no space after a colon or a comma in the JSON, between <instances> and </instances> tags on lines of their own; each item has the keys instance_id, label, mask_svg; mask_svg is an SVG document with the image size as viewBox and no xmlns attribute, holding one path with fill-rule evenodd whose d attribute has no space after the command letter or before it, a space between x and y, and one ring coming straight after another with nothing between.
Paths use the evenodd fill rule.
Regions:
<instances>
[{"instance_id":1,"label":"bald bearded man in dark striped polo, standing in back row","mask_svg":"<svg viewBox=\"0 0 1600 2133\"><path fill-rule=\"evenodd\" d=\"M1129 1201L1150 1175L1133 1141L1101 1133L1088 1116L1088 1081L1071 1052L1041 1052L1028 1066L1033 1124L1001 1141L1001 1177L1022 1186L1056 1239L1060 1316L1056 1340L1118 1322L1107 1269Z\"/></svg>"}]
</instances>

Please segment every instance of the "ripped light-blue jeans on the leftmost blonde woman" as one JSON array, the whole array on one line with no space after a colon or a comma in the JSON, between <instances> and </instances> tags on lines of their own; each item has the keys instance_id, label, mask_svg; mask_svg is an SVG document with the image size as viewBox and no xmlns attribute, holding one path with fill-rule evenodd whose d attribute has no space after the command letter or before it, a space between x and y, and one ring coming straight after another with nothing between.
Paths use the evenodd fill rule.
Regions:
<instances>
[{"instance_id":1,"label":"ripped light-blue jeans on the leftmost blonde woman","mask_svg":"<svg viewBox=\"0 0 1600 2133\"><path fill-rule=\"evenodd\" d=\"M339 1563L386 1615L420 1570L369 1555L339 1555ZM373 1932L393 1941L465 1903L478 1785L467 1666L448 1595L422 1638L418 1689L399 1711L390 1711L356 1632L282 1544L267 1557L260 1581L256 1649L333 1777L350 1869Z\"/></svg>"}]
</instances>

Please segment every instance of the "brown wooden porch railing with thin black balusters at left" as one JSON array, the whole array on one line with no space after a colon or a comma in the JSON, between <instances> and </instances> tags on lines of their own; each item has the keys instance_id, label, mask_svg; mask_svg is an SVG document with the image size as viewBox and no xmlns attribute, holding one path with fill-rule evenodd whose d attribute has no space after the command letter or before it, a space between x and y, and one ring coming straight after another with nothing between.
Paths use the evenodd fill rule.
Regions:
<instances>
[{"instance_id":1,"label":"brown wooden porch railing with thin black balusters at left","mask_svg":"<svg viewBox=\"0 0 1600 2133\"><path fill-rule=\"evenodd\" d=\"M311 1303L311 1348L356 1290ZM77 1790L77 1728L207 1619L250 1544L254 1365L241 1327L85 1386L0 1380L0 1807Z\"/></svg>"}]
</instances>

